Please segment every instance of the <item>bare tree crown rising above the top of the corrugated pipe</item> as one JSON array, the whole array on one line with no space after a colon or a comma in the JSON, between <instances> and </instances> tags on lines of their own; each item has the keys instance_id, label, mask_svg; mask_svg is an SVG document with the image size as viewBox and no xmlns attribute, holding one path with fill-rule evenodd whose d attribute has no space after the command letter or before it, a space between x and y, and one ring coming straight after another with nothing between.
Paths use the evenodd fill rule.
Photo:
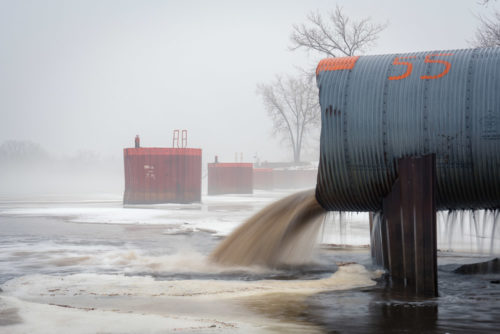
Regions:
<instances>
[{"instance_id":1,"label":"bare tree crown rising above the top of the corrugated pipe","mask_svg":"<svg viewBox=\"0 0 500 334\"><path fill-rule=\"evenodd\" d=\"M328 57L364 53L387 27L387 24L373 23L369 17L352 21L338 5L326 19L319 12L311 12L307 20L307 25L293 26L290 50L304 48Z\"/></svg>"}]
</instances>

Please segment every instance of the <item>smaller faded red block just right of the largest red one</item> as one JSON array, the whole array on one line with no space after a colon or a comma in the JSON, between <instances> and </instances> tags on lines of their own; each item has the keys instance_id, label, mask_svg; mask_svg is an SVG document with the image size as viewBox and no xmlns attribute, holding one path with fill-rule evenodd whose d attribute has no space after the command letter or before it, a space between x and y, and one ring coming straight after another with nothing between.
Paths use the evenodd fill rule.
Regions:
<instances>
[{"instance_id":1,"label":"smaller faded red block just right of the largest red one","mask_svg":"<svg viewBox=\"0 0 500 334\"><path fill-rule=\"evenodd\" d=\"M209 163L208 194L252 194L252 163Z\"/></svg>"}]
</instances>

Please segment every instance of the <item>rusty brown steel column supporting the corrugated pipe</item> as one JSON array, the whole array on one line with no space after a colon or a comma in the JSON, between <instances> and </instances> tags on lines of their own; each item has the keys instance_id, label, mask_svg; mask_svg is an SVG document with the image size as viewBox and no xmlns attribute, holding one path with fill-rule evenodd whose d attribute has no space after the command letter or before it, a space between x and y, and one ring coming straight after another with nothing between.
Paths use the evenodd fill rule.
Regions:
<instances>
[{"instance_id":1,"label":"rusty brown steel column supporting the corrugated pipe","mask_svg":"<svg viewBox=\"0 0 500 334\"><path fill-rule=\"evenodd\" d=\"M394 288L420 297L437 296L435 192L435 155L402 158L382 205L384 266Z\"/></svg>"}]
</instances>

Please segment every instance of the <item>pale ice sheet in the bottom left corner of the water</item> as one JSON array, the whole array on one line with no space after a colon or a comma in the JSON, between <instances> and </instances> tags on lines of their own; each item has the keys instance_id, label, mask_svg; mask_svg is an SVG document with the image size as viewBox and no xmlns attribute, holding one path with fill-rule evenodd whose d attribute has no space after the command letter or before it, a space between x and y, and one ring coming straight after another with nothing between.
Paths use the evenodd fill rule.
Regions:
<instances>
[{"instance_id":1,"label":"pale ice sheet in the bottom left corner of the water","mask_svg":"<svg viewBox=\"0 0 500 334\"><path fill-rule=\"evenodd\" d=\"M98 310L66 304L40 304L0 297L0 319L6 333L246 333L257 326L195 316ZM5 323L4 323L5 322Z\"/></svg>"}]
</instances>

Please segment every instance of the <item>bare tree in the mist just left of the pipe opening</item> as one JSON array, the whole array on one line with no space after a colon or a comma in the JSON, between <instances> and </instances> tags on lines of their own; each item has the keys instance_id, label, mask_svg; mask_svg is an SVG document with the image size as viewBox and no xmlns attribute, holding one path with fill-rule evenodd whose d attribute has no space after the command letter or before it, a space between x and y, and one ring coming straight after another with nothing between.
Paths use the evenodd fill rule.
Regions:
<instances>
[{"instance_id":1,"label":"bare tree in the mist just left of the pipe opening","mask_svg":"<svg viewBox=\"0 0 500 334\"><path fill-rule=\"evenodd\" d=\"M273 121L274 134L289 141L294 162L300 162L305 136L320 122L315 81L306 75L276 76L268 85L259 84L257 93Z\"/></svg>"}]
</instances>

